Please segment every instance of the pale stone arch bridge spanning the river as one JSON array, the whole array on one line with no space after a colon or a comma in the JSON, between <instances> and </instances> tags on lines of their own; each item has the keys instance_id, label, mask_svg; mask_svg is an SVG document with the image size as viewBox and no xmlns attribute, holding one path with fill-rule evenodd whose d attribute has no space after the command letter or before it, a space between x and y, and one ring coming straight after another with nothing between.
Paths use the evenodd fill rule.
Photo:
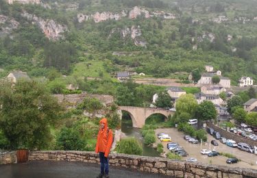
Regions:
<instances>
[{"instance_id":1,"label":"pale stone arch bridge spanning the river","mask_svg":"<svg viewBox=\"0 0 257 178\"><path fill-rule=\"evenodd\" d=\"M173 111L153 107L119 106L119 110L128 112L132 118L133 127L138 128L142 128L145 125L145 120L152 114L162 114L166 118L174 114Z\"/></svg>"}]
</instances>

